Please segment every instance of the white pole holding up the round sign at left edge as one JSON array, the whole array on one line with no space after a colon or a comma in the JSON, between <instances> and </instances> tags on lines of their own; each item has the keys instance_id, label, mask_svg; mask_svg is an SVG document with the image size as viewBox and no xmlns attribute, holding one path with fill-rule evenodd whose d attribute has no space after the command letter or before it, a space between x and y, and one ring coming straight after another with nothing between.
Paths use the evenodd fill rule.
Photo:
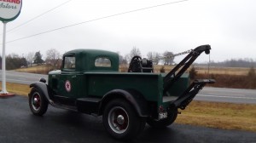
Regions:
<instances>
[{"instance_id":1,"label":"white pole holding up the round sign at left edge","mask_svg":"<svg viewBox=\"0 0 256 143\"><path fill-rule=\"evenodd\" d=\"M6 41L6 23L3 22L3 53L2 53L2 92L1 94L8 94L6 90L6 77L5 77L5 41Z\"/></svg>"}]
</instances>

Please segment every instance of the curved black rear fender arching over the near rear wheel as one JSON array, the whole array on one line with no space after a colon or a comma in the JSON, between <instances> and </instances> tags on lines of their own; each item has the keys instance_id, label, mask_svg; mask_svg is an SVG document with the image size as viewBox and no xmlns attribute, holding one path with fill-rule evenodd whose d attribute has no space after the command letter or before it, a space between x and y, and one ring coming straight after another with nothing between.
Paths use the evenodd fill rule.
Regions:
<instances>
[{"instance_id":1,"label":"curved black rear fender arching over the near rear wheel","mask_svg":"<svg viewBox=\"0 0 256 143\"><path fill-rule=\"evenodd\" d=\"M132 89L113 89L105 94L102 98L102 102L100 105L100 114L104 111L104 106L108 104L110 100L123 98L131 103L131 106L134 107L138 116L140 117L148 117L148 102L143 97L143 94L140 94L136 90Z\"/></svg>"}]
</instances>

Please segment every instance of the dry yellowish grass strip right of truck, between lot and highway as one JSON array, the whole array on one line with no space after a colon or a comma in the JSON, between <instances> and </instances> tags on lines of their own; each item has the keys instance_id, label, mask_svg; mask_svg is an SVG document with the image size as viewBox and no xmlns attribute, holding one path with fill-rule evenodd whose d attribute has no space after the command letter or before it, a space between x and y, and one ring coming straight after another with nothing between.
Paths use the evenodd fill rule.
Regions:
<instances>
[{"instance_id":1,"label":"dry yellowish grass strip right of truck, between lot and highway","mask_svg":"<svg viewBox=\"0 0 256 143\"><path fill-rule=\"evenodd\" d=\"M256 132L256 105L193 101L176 123Z\"/></svg>"}]
</instances>

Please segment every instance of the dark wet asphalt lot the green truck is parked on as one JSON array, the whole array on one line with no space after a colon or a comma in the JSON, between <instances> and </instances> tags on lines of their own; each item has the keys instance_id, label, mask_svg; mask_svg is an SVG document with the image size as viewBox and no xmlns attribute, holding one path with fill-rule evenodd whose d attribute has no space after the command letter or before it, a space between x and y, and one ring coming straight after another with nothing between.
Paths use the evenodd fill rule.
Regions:
<instances>
[{"instance_id":1,"label":"dark wet asphalt lot the green truck is parked on","mask_svg":"<svg viewBox=\"0 0 256 143\"><path fill-rule=\"evenodd\" d=\"M102 125L102 117L68 112L49 106L44 117L30 112L25 96L0 99L1 143L115 143ZM134 143L256 143L256 133L173 124L155 130L146 126Z\"/></svg>"}]
</instances>

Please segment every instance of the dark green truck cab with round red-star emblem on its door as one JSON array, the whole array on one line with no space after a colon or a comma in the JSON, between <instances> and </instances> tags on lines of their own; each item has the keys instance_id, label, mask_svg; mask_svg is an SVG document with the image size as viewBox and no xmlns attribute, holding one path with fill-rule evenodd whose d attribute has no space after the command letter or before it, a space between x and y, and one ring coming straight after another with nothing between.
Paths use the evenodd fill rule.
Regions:
<instances>
[{"instance_id":1,"label":"dark green truck cab with round red-star emblem on its door","mask_svg":"<svg viewBox=\"0 0 256 143\"><path fill-rule=\"evenodd\" d=\"M76 49L63 55L61 70L49 72L49 88L56 95L81 98L88 95L86 72L118 72L119 55L96 49Z\"/></svg>"}]
</instances>

